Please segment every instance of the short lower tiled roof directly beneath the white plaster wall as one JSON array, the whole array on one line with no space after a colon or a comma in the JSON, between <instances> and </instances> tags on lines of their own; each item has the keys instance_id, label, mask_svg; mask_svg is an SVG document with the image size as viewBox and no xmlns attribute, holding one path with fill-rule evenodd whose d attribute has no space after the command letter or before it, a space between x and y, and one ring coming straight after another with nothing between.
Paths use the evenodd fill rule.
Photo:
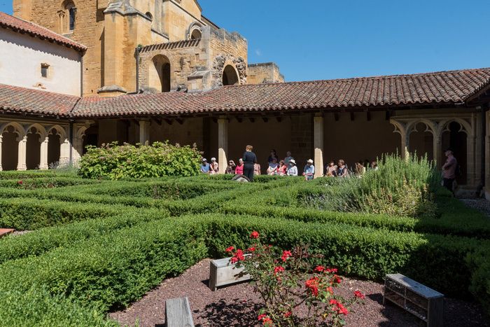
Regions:
<instances>
[{"instance_id":1,"label":"short lower tiled roof directly beneath the white plaster wall","mask_svg":"<svg viewBox=\"0 0 490 327\"><path fill-rule=\"evenodd\" d=\"M80 98L0 84L0 112L69 116Z\"/></svg>"}]
</instances>

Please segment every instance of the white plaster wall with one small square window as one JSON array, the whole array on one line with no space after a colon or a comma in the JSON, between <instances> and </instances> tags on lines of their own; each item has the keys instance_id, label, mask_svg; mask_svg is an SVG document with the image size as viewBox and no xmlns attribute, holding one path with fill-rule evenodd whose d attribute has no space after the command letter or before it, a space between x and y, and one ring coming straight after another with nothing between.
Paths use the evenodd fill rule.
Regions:
<instances>
[{"instance_id":1,"label":"white plaster wall with one small square window","mask_svg":"<svg viewBox=\"0 0 490 327\"><path fill-rule=\"evenodd\" d=\"M48 78L41 76L48 64ZM0 29L0 83L80 96L80 53L66 46Z\"/></svg>"}]
</instances>

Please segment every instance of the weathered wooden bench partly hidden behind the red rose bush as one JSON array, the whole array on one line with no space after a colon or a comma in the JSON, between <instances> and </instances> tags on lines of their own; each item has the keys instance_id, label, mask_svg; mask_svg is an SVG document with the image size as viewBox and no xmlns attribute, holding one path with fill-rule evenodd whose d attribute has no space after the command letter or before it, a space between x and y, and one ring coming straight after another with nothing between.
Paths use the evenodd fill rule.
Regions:
<instances>
[{"instance_id":1,"label":"weathered wooden bench partly hidden behind the red rose bush","mask_svg":"<svg viewBox=\"0 0 490 327\"><path fill-rule=\"evenodd\" d=\"M216 291L219 286L250 280L249 274L245 274L242 277L236 276L244 271L244 267L236 268L235 264L230 263L230 259L224 258L211 261L209 266L209 288L211 288L211 291Z\"/></svg>"}]
</instances>

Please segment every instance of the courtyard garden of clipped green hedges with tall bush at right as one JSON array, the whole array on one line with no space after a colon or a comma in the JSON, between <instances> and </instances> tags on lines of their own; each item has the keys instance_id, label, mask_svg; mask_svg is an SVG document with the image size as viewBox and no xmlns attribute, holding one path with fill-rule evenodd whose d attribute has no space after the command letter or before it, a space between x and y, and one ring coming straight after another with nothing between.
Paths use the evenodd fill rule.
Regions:
<instances>
[{"instance_id":1,"label":"courtyard garden of clipped green hedges with tall bush at right","mask_svg":"<svg viewBox=\"0 0 490 327\"><path fill-rule=\"evenodd\" d=\"M18 231L0 239L2 326L118 326L111 312L190 267L209 274L202 260L246 249L254 231L277 249L307 246L311 267L360 287L399 272L490 312L490 219L440 187L426 160L387 157L363 179L310 182L82 167L96 178L0 173L0 228ZM189 287L181 280L181 295Z\"/></svg>"}]
</instances>

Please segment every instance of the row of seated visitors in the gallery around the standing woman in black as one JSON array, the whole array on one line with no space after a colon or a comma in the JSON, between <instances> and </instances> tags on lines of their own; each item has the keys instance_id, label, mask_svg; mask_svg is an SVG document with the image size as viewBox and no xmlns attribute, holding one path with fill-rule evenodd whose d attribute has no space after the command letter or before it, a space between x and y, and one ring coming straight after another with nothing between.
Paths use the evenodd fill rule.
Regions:
<instances>
[{"instance_id":1,"label":"row of seated visitors in the gallery around the standing woman in black","mask_svg":"<svg viewBox=\"0 0 490 327\"><path fill-rule=\"evenodd\" d=\"M286 153L286 158L279 160L276 155L276 151L272 150L270 152L269 158L267 158L268 167L267 167L267 175L276 175L276 176L298 176L297 164L290 151ZM324 176L332 176L332 177L347 177L352 174L355 176L363 176L367 169L377 170L377 162L369 160L365 160L364 162L360 160L356 162L355 169L353 171L349 171L344 160L340 159L335 165L335 161L332 160L325 167L325 175ZM216 158L211 158L211 163L207 162L207 159L202 159L201 172L204 174L218 174L219 165L216 162ZM244 160L241 158L238 160L238 165L235 164L235 161L230 160L228 162L228 166L226 167L225 174L244 174ZM254 165L254 176L260 175L260 165L255 163ZM309 159L304 166L302 176L307 181L314 178L315 175L315 167L314 161Z\"/></svg>"}]
</instances>

